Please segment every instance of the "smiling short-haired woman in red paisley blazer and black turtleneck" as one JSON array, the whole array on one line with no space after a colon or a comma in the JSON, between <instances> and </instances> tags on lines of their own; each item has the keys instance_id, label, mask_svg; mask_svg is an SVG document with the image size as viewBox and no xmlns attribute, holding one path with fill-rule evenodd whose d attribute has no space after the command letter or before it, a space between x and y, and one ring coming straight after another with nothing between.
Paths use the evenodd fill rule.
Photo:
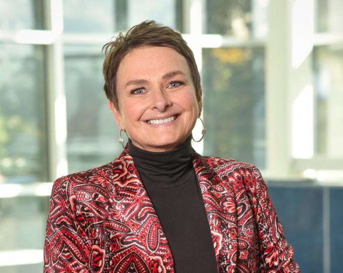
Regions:
<instances>
[{"instance_id":1,"label":"smiling short-haired woman in red paisley blazer and black turtleneck","mask_svg":"<svg viewBox=\"0 0 343 273\"><path fill-rule=\"evenodd\" d=\"M129 143L55 181L44 272L299 272L259 170L191 147L202 91L182 36L145 21L104 49Z\"/></svg>"}]
</instances>

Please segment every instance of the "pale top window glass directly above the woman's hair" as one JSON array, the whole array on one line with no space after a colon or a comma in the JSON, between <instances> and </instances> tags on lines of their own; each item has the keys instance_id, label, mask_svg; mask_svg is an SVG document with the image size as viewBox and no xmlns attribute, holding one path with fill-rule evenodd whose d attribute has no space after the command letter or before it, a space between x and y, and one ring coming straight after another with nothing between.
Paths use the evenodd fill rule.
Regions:
<instances>
[{"instance_id":1,"label":"pale top window glass directly above the woman's hair","mask_svg":"<svg viewBox=\"0 0 343 273\"><path fill-rule=\"evenodd\" d=\"M140 0L65 0L63 4L65 32L111 33L144 20L182 31L181 0L147 0L144 5Z\"/></svg>"}]
</instances>

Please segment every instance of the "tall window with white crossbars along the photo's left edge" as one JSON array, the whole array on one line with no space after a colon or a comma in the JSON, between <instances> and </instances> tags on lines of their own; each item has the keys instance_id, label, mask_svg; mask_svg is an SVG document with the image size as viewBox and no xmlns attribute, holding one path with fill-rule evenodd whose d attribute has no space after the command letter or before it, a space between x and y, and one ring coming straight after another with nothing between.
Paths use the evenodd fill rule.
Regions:
<instances>
[{"instance_id":1,"label":"tall window with white crossbars along the photo's left edge","mask_svg":"<svg viewBox=\"0 0 343 273\"><path fill-rule=\"evenodd\" d=\"M48 54L27 33L50 33L45 8L43 1L0 1L0 272L41 268L51 188L41 191L50 172Z\"/></svg>"}]
</instances>

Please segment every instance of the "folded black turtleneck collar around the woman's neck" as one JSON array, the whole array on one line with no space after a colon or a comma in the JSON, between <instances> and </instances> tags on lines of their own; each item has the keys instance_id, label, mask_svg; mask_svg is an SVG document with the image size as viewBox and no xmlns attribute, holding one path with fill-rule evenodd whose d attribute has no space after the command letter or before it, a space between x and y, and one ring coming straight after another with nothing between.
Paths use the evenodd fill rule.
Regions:
<instances>
[{"instance_id":1,"label":"folded black turtleneck collar around the woman's neck","mask_svg":"<svg viewBox=\"0 0 343 273\"><path fill-rule=\"evenodd\" d=\"M149 152L133 145L129 139L129 154L145 186L170 188L188 181L193 171L192 135L179 147L166 152Z\"/></svg>"}]
</instances>

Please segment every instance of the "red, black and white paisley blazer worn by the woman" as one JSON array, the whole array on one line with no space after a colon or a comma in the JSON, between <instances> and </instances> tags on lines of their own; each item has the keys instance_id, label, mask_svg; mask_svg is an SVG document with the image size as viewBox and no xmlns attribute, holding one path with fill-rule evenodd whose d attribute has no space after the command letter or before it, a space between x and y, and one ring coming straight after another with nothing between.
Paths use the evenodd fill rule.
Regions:
<instances>
[{"instance_id":1,"label":"red, black and white paisley blazer worn by the woman","mask_svg":"<svg viewBox=\"0 0 343 273\"><path fill-rule=\"evenodd\" d=\"M193 165L218 272L300 272L259 170L197 153ZM175 272L163 228L126 150L104 166L54 182L44 272Z\"/></svg>"}]
</instances>

